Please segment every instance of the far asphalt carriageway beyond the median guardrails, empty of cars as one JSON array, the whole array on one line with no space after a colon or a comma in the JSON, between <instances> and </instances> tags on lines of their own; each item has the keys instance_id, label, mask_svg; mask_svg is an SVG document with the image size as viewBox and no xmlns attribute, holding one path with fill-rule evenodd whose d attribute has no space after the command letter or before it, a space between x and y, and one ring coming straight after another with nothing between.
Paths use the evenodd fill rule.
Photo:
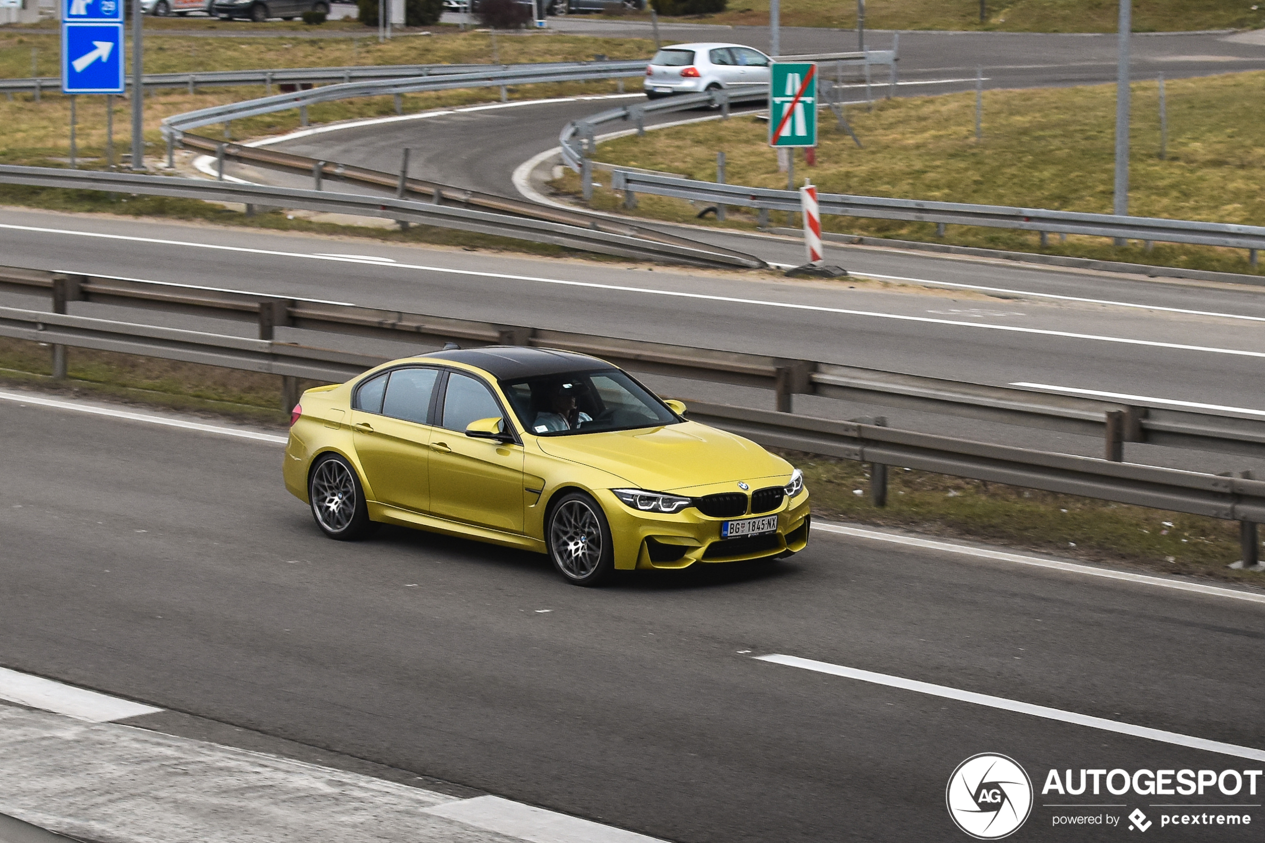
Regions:
<instances>
[{"instance_id":1,"label":"far asphalt carriageway beyond the median guardrails, empty of cars","mask_svg":"<svg viewBox=\"0 0 1265 843\"><path fill-rule=\"evenodd\" d=\"M1265 298L1217 288L939 259L931 281L979 283L985 270L1008 293L883 288L858 282L788 282L774 276L648 269L582 260L439 250L205 225L147 222L33 211L0 211L5 263L92 272L373 307L577 331L698 348L753 351L988 384L1039 383L1260 412ZM853 253L849 253L853 254ZM899 274L902 260L855 252ZM340 257L340 255L352 255ZM386 260L355 260L368 255ZM921 268L927 268L922 265ZM992 279L990 279L992 281ZM1088 301L1041 298L1055 288ZM1059 294L1059 293L1055 293ZM10 306L47 308L46 298L6 294ZM1107 305L1103 302L1122 302ZM1174 312L1159 307L1195 312ZM72 303L71 312L249 334L242 322L164 316ZM1202 315L1200 315L1202 313ZM1221 313L1221 315L1214 315ZM278 339L329 345L329 336L283 331ZM354 337L338 348L410 354ZM772 393L650 379L667 394L772 406ZM1101 455L1101 442L1046 431L985 426L801 397L810 415L885 415L897 427L990 439L1041 450ZM1126 459L1203 471L1260 470L1252 460L1128 445Z\"/></svg>"}]
</instances>

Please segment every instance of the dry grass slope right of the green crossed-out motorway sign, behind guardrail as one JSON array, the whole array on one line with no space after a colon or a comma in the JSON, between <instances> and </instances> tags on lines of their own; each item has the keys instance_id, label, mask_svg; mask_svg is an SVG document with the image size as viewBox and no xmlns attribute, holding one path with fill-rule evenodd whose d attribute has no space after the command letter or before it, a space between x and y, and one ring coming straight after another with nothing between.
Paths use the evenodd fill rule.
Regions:
<instances>
[{"instance_id":1,"label":"dry grass slope right of the green crossed-out motorway sign, behind guardrail","mask_svg":"<svg viewBox=\"0 0 1265 843\"><path fill-rule=\"evenodd\" d=\"M1130 212L1183 220L1265 225L1265 73L1249 72L1166 83L1168 154L1159 158L1157 85L1133 85ZM974 134L974 94L954 94L849 107L849 120L865 144L858 149L821 112L817 166L796 159L797 183L812 178L822 192L899 198L1018 205L1065 211L1109 214L1113 191L1114 86L988 91L984 94L983 139ZM716 153L727 158L730 183L787 186L777 155L767 144L768 124L751 116L731 118L649 131L598 147L597 159L716 178ZM598 173L598 181L605 181ZM567 171L554 182L578 193L578 177ZM682 200L640 196L635 214L697 221L697 207ZM616 210L621 197L595 192L595 207ZM783 225L775 214L774 224ZM730 211L726 224L754 227L755 216ZM1154 245L1117 248L1102 238L1051 236L1040 246L1034 233L949 226L937 238L935 225L897 220L826 216L827 231L903 240L951 243L1044 252L1155 265L1252 272L1246 250L1211 246Z\"/></svg>"}]
</instances>

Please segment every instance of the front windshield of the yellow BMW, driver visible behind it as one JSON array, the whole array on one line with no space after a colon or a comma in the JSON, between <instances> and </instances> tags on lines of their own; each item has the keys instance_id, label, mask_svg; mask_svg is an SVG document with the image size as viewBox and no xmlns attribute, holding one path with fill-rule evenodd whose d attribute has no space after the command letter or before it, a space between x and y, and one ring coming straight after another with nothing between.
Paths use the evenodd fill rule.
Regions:
<instances>
[{"instance_id":1,"label":"front windshield of the yellow BMW, driver visible behind it","mask_svg":"<svg viewBox=\"0 0 1265 843\"><path fill-rule=\"evenodd\" d=\"M569 436L676 425L681 418L619 369L502 380L522 426L536 436Z\"/></svg>"}]
</instances>

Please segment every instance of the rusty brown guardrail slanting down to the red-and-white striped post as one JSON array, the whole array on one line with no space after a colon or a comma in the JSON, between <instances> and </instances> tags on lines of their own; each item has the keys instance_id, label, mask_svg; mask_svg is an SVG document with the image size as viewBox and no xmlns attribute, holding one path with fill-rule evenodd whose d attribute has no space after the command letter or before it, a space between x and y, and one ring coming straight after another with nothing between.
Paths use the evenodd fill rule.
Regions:
<instances>
[{"instance_id":1,"label":"rusty brown guardrail slanting down to the red-and-white striped post","mask_svg":"<svg viewBox=\"0 0 1265 843\"><path fill-rule=\"evenodd\" d=\"M482 193L479 191L453 187L450 185L440 185L439 182L431 182L423 178L402 178L396 173L369 169L367 167L318 161L316 158L296 155L293 153L268 149L266 147L224 143L194 134L186 134L181 139L181 143L190 149L201 149L207 153L214 153L216 157L223 157L224 161L237 161L271 169L283 169L288 172L311 174L315 182L314 187L316 190L320 190L320 185L326 178L354 182L379 188L388 188L396 195L397 198L417 196L424 197L425 201L431 203L449 202L462 207L478 207L497 214L514 214L516 216L525 216L534 220L545 220L549 222L560 222L563 225L582 229L592 229L606 234L620 234L639 238L641 240L660 243L670 246L686 249L696 249L700 246L700 244L694 240L678 238L672 234L664 234L662 231L655 231L654 229L629 225L627 222L612 220L607 216L596 216L582 211L569 211L536 205L535 202L507 198L505 196L496 196L495 193ZM756 269L765 265L765 263L759 258L743 252L716 245L708 245L706 249L717 255L729 255L731 259L730 265L734 267Z\"/></svg>"}]
</instances>

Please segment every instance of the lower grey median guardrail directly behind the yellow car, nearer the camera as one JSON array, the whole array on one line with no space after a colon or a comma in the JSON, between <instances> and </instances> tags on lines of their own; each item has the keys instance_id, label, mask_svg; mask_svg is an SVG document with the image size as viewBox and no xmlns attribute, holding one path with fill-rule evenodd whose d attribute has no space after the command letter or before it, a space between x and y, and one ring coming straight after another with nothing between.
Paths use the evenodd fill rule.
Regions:
<instances>
[{"instance_id":1,"label":"lower grey median guardrail directly behind the yellow car, nearer the camera","mask_svg":"<svg viewBox=\"0 0 1265 843\"><path fill-rule=\"evenodd\" d=\"M65 292L65 281L62 289ZM305 302L300 306L307 305L310 303ZM0 336L280 374L293 384L290 396L293 399L297 399L295 378L342 382L386 361L386 358L267 339L224 336L14 307L0 307ZM543 340L540 345L548 344L544 336L534 339ZM611 363L621 363L611 355L605 356ZM1240 521L1245 565L1256 561L1256 525L1265 522L1262 480L1112 463L703 402L687 402L687 413L694 421L729 430L765 446Z\"/></svg>"}]
</instances>

